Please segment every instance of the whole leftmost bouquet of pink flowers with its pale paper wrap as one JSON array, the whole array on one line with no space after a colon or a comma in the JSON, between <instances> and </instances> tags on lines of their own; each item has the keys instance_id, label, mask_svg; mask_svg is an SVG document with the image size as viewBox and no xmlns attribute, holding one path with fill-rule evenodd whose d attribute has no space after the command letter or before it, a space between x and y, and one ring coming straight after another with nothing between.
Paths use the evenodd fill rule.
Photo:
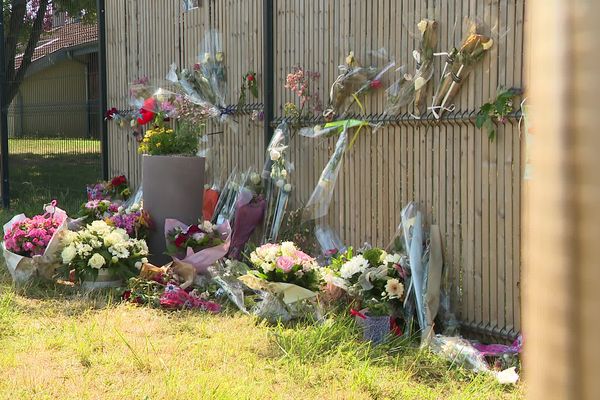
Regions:
<instances>
[{"instance_id":1,"label":"whole leftmost bouquet of pink flowers with its pale paper wrap","mask_svg":"<svg viewBox=\"0 0 600 400\"><path fill-rule=\"evenodd\" d=\"M51 279L58 266L56 253L67 214L53 205L44 215L14 216L4 225L2 249L13 281L21 284L36 275Z\"/></svg>"}]
</instances>

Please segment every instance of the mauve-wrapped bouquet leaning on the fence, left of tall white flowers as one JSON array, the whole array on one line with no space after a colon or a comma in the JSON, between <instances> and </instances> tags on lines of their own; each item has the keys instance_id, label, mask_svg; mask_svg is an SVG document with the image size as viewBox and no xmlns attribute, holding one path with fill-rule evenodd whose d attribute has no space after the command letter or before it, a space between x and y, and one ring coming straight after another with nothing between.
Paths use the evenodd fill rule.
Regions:
<instances>
[{"instance_id":1,"label":"mauve-wrapped bouquet leaning on the fence, left of tall white flowers","mask_svg":"<svg viewBox=\"0 0 600 400\"><path fill-rule=\"evenodd\" d=\"M237 259L241 256L250 236L265 217L265 199L262 180L256 172L250 173L249 181L241 189L235 205L233 235L228 256Z\"/></svg>"}]
</instances>

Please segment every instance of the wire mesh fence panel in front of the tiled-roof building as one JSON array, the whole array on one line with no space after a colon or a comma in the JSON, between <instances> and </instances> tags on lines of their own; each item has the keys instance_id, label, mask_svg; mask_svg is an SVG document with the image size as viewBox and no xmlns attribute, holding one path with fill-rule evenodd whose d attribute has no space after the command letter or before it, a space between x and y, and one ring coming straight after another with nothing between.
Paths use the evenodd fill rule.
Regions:
<instances>
[{"instance_id":1,"label":"wire mesh fence panel in front of the tiled-roof building","mask_svg":"<svg viewBox=\"0 0 600 400\"><path fill-rule=\"evenodd\" d=\"M11 205L75 211L102 172L98 26L38 3L5 28Z\"/></svg>"}]
</instances>

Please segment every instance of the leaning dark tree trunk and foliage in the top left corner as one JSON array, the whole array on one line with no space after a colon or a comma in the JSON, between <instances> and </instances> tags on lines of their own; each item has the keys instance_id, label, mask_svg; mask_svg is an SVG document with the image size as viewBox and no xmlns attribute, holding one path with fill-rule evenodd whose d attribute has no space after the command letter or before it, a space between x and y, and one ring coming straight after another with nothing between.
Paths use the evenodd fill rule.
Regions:
<instances>
[{"instance_id":1,"label":"leaning dark tree trunk and foliage in the top left corner","mask_svg":"<svg viewBox=\"0 0 600 400\"><path fill-rule=\"evenodd\" d=\"M4 104L10 104L31 65L44 30L51 27L53 13L65 12L91 22L95 20L96 0L4 0L2 4L5 59L1 67L8 82ZM23 54L21 64L15 68L20 54Z\"/></svg>"}]
</instances>

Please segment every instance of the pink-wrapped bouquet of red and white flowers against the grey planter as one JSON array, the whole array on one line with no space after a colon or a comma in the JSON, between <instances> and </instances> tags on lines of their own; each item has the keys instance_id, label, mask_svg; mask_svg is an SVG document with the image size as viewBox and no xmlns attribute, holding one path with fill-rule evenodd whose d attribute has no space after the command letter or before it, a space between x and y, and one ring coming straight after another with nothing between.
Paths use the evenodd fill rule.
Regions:
<instances>
[{"instance_id":1,"label":"pink-wrapped bouquet of red and white flowers against the grey planter","mask_svg":"<svg viewBox=\"0 0 600 400\"><path fill-rule=\"evenodd\" d=\"M213 225L208 221L186 225L175 219L165 220L167 254L191 264L200 274L225 257L231 242L231 227L226 221Z\"/></svg>"}]
</instances>

